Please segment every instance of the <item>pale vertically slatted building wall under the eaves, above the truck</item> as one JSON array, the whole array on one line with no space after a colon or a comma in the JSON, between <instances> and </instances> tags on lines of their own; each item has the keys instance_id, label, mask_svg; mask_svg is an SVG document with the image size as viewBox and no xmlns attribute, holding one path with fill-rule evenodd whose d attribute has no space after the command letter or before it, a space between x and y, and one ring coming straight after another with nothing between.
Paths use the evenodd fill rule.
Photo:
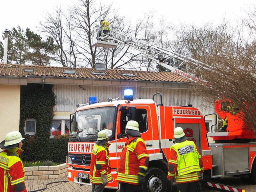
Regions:
<instances>
[{"instance_id":1,"label":"pale vertically slatted building wall under the eaves, above the truck","mask_svg":"<svg viewBox=\"0 0 256 192\"><path fill-rule=\"evenodd\" d=\"M167 106L186 106L192 104L199 108L203 114L214 112L213 105L206 104L202 97L196 96L190 89L173 88L146 88L146 87L114 87L114 86L90 86L90 85L54 85L56 94L55 112L74 112L76 104L88 103L90 96L96 96L98 102L107 101L108 98L124 98L124 89L134 90L134 98L151 99L154 93L162 94L162 102ZM160 103L160 97L155 96L156 103Z\"/></svg>"}]
</instances>

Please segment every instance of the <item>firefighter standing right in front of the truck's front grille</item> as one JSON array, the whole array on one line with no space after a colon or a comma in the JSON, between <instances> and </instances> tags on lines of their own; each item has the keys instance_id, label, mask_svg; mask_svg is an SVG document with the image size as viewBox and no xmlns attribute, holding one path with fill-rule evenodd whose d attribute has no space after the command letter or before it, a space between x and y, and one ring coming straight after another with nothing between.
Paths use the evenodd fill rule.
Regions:
<instances>
[{"instance_id":1,"label":"firefighter standing right in front of the truck's front grille","mask_svg":"<svg viewBox=\"0 0 256 192\"><path fill-rule=\"evenodd\" d=\"M92 148L92 159L90 164L90 182L92 192L102 192L104 186L113 180L111 168L109 166L109 137L111 130L101 130L98 132L96 145Z\"/></svg>"}]
</instances>

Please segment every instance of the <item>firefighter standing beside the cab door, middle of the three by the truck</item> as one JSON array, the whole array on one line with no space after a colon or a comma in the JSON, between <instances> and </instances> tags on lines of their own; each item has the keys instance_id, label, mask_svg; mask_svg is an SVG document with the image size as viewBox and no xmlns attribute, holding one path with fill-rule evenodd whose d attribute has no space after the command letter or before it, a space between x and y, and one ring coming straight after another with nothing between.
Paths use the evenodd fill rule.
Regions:
<instances>
[{"instance_id":1,"label":"firefighter standing beside the cab door, middle of the three by the truck","mask_svg":"<svg viewBox=\"0 0 256 192\"><path fill-rule=\"evenodd\" d=\"M116 180L120 182L120 192L142 192L149 162L146 145L140 137L138 122L130 120L125 128L128 140L120 155Z\"/></svg>"}]
</instances>

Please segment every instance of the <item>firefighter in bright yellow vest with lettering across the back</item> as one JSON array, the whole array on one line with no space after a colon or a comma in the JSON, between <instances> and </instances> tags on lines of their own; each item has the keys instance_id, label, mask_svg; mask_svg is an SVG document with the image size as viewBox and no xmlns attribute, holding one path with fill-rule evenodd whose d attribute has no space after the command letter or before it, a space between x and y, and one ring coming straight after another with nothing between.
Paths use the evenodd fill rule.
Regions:
<instances>
[{"instance_id":1,"label":"firefighter in bright yellow vest with lettering across the back","mask_svg":"<svg viewBox=\"0 0 256 192\"><path fill-rule=\"evenodd\" d=\"M175 144L170 148L167 179L175 176L178 192L197 192L197 172L203 173L204 166L197 146L187 139L181 127L174 129Z\"/></svg>"}]
</instances>

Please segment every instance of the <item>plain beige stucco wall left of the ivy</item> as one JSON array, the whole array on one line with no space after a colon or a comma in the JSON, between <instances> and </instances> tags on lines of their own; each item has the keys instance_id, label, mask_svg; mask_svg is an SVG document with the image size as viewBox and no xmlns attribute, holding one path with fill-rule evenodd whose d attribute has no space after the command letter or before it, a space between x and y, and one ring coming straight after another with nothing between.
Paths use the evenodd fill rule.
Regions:
<instances>
[{"instance_id":1,"label":"plain beige stucco wall left of the ivy","mask_svg":"<svg viewBox=\"0 0 256 192\"><path fill-rule=\"evenodd\" d=\"M20 85L0 85L0 142L20 126Z\"/></svg>"}]
</instances>

